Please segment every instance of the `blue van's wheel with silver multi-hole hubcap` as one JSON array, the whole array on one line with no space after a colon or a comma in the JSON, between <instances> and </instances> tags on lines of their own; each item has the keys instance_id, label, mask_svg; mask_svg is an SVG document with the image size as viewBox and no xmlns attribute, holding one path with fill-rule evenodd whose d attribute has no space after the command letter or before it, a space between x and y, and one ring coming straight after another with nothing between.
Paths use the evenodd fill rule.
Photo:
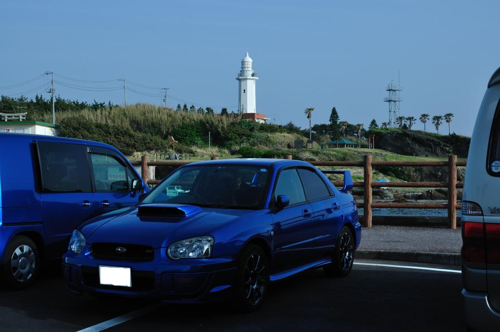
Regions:
<instances>
[{"instance_id":1,"label":"blue van's wheel with silver multi-hole hubcap","mask_svg":"<svg viewBox=\"0 0 500 332\"><path fill-rule=\"evenodd\" d=\"M38 277L40 255L38 247L29 238L16 235L7 245L2 262L4 285L7 289L31 286Z\"/></svg>"}]
</instances>

